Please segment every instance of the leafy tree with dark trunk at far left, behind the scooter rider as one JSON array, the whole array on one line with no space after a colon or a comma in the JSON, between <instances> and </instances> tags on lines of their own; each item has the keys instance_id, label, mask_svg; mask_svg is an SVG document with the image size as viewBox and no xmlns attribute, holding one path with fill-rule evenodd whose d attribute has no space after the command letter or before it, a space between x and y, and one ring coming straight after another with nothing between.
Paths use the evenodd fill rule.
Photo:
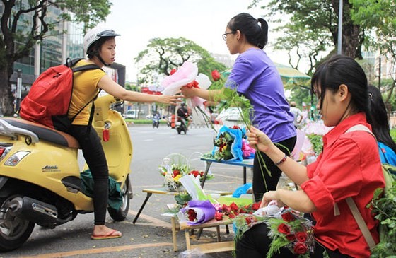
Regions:
<instances>
[{"instance_id":1,"label":"leafy tree with dark trunk at far left, behind the scooter rider","mask_svg":"<svg viewBox=\"0 0 396 258\"><path fill-rule=\"evenodd\" d=\"M63 20L84 23L91 28L110 13L110 0L2 0L4 8L0 25L0 107L11 115L13 95L10 78L13 63L28 57L33 47L48 35L64 33L55 30ZM52 6L67 10L59 16L48 16ZM71 17L70 13L74 13Z\"/></svg>"}]
</instances>

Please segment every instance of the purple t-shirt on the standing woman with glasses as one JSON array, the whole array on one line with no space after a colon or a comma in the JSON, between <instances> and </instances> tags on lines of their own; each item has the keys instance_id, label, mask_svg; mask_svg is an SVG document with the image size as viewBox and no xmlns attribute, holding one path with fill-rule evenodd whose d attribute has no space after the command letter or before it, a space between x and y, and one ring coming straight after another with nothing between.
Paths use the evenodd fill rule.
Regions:
<instances>
[{"instance_id":1,"label":"purple t-shirt on the standing woman with glasses","mask_svg":"<svg viewBox=\"0 0 396 258\"><path fill-rule=\"evenodd\" d=\"M226 82L228 88L235 86L254 108L253 125L269 139L279 142L296 136L281 76L263 50L252 48L238 56Z\"/></svg>"}]
</instances>

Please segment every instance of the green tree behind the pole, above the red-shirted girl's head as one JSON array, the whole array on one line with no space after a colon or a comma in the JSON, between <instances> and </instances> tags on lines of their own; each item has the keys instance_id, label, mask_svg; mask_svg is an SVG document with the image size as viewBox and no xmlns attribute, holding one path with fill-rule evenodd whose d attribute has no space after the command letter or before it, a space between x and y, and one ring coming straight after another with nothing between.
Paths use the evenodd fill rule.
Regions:
<instances>
[{"instance_id":1,"label":"green tree behind the pole, above the red-shirted girl's head","mask_svg":"<svg viewBox=\"0 0 396 258\"><path fill-rule=\"evenodd\" d=\"M252 6L262 0L253 0ZM362 0L363 1L363 0ZM278 49L285 49L301 54L310 60L310 72L320 62L318 54L328 47L333 47L330 54L334 54L338 42L338 0L271 0L262 6L267 11L267 18L274 22L279 19L272 18L272 13L280 13L282 19L289 17L289 22L281 25L280 30L286 35L279 37L275 44ZM359 23L351 19L353 4L343 1L342 21L342 54L361 59L361 46L365 31ZM298 60L292 64L298 68ZM308 73L310 74L310 73Z\"/></svg>"}]
</instances>

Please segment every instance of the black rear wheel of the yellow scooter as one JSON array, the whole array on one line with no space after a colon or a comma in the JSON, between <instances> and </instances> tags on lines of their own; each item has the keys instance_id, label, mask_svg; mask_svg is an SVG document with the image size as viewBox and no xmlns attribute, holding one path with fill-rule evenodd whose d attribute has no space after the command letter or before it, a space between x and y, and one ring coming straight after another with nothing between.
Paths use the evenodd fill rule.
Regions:
<instances>
[{"instance_id":1,"label":"black rear wheel of the yellow scooter","mask_svg":"<svg viewBox=\"0 0 396 258\"><path fill-rule=\"evenodd\" d=\"M0 198L0 252L21 247L35 228L35 223L16 216L12 200L19 195Z\"/></svg>"}]
</instances>

